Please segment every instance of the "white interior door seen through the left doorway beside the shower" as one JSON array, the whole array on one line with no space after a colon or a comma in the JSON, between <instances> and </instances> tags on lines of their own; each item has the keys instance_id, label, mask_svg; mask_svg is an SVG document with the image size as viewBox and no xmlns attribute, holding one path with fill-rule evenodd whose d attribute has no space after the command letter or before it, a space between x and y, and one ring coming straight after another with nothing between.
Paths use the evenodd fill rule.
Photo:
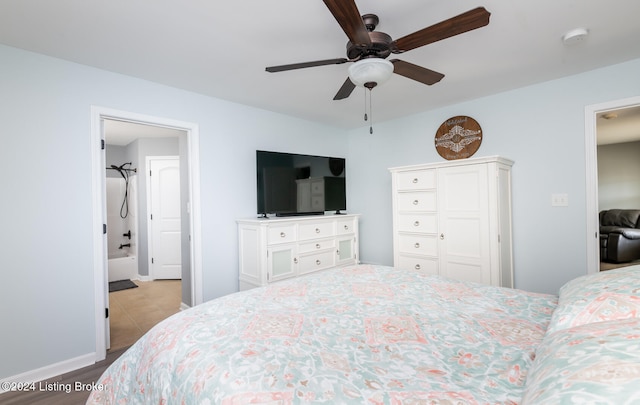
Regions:
<instances>
[{"instance_id":1,"label":"white interior door seen through the left doorway beside the shower","mask_svg":"<svg viewBox=\"0 0 640 405\"><path fill-rule=\"evenodd\" d=\"M149 258L152 279L181 279L180 160L150 157Z\"/></svg>"}]
</instances>

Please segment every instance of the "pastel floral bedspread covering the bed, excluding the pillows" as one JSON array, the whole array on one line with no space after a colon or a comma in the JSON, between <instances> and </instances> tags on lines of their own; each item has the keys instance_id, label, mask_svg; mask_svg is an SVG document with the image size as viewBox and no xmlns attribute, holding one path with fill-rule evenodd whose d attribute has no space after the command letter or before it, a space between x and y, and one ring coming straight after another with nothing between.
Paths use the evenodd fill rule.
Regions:
<instances>
[{"instance_id":1,"label":"pastel floral bedspread covering the bed, excluding the pillows","mask_svg":"<svg viewBox=\"0 0 640 405\"><path fill-rule=\"evenodd\" d=\"M334 269L172 316L87 403L519 403L556 304L391 267Z\"/></svg>"}]
</instances>

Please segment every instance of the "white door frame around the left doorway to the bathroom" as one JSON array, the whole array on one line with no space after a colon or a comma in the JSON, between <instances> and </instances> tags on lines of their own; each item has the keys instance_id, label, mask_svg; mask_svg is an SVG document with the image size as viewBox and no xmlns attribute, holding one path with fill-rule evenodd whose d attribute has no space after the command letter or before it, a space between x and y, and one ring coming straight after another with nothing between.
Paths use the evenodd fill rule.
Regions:
<instances>
[{"instance_id":1,"label":"white door frame around the left doorway to the bathroom","mask_svg":"<svg viewBox=\"0 0 640 405\"><path fill-rule=\"evenodd\" d=\"M188 199L190 203L189 231L191 244L191 306L203 302L202 284L202 239L200 207L200 138L198 124L178 121L165 117L138 114L101 106L91 106L91 171L93 205L93 273L96 323L96 361L104 360L107 353L107 333L109 319L105 311L109 305L107 273L107 238L103 224L106 219L106 176L103 120L112 119L137 124L152 125L181 130L187 134L187 170L189 177Z\"/></svg>"}]
</instances>

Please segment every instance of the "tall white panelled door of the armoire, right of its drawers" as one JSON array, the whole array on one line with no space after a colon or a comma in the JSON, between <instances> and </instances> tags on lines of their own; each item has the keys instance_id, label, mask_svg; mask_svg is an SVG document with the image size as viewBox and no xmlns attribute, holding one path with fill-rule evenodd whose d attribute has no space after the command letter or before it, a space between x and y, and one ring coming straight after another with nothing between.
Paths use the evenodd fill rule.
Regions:
<instances>
[{"instance_id":1,"label":"tall white panelled door of the armoire, right of its drawers","mask_svg":"<svg viewBox=\"0 0 640 405\"><path fill-rule=\"evenodd\" d=\"M486 165L438 170L441 274L490 283Z\"/></svg>"}]
</instances>

